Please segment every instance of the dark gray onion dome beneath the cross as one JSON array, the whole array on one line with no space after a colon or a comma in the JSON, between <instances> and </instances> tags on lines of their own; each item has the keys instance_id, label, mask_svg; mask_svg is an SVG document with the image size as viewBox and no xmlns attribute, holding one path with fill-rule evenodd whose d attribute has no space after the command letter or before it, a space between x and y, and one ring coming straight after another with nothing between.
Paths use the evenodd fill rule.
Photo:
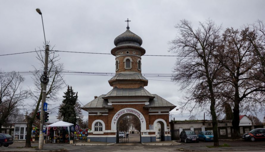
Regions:
<instances>
[{"instance_id":1,"label":"dark gray onion dome beneath the cross","mask_svg":"<svg viewBox=\"0 0 265 152\"><path fill-rule=\"evenodd\" d=\"M127 27L127 30L124 33L115 38L115 46L120 46L122 44L136 44L141 46L143 44L143 40L140 38L140 36L132 33L129 29L130 28Z\"/></svg>"}]
</instances>

